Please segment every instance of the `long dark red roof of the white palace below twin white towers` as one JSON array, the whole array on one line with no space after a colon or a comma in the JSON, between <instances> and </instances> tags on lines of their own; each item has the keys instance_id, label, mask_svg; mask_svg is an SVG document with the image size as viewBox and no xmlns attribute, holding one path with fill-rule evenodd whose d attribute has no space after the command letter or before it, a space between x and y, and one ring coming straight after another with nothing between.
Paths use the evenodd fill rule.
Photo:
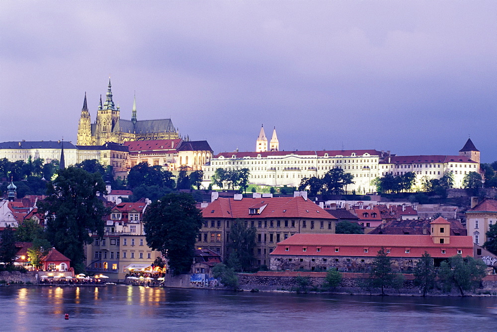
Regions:
<instances>
[{"instance_id":1,"label":"long dark red roof of the white palace below twin white towers","mask_svg":"<svg viewBox=\"0 0 497 332\"><path fill-rule=\"evenodd\" d=\"M262 158L267 157L276 157L276 156L313 156L313 157L324 157L328 154L329 157L335 156L352 156L355 154L357 157L361 157L364 154L369 154L371 156L381 156L382 153L377 150L312 150L312 151L265 151L265 152L222 152L215 156L215 158L219 158L223 156L224 158L232 158L233 155L236 158L244 158L251 157L256 158L260 155Z\"/></svg>"}]
</instances>

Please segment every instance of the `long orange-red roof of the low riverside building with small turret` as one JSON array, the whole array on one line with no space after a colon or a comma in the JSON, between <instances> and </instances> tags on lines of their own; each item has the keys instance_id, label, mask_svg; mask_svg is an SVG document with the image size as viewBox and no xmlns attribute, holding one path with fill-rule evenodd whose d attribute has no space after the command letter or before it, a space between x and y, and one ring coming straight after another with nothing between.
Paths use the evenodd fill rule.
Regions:
<instances>
[{"instance_id":1,"label":"long orange-red roof of the low riverside building with small turret","mask_svg":"<svg viewBox=\"0 0 497 332\"><path fill-rule=\"evenodd\" d=\"M310 247L305 252L303 247ZM336 248L339 251L336 252ZM289 250L287 251L286 248ZM317 254L317 248L320 248ZM378 235L378 234L301 234L297 233L278 243L271 255L292 256L363 256L375 257L378 250L390 250L391 257L420 257L424 251L432 257L450 257L455 253L441 249L463 250L463 256L473 256L471 236L451 236L450 243L433 243L430 235ZM367 249L367 252L366 252ZM407 253L406 251L409 250Z\"/></svg>"}]
</instances>

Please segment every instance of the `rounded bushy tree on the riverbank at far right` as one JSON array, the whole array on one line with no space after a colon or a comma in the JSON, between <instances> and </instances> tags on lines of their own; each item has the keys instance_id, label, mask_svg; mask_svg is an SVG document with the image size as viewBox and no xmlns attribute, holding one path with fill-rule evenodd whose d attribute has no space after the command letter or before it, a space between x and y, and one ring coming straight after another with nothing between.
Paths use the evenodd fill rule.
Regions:
<instances>
[{"instance_id":1,"label":"rounded bushy tree on the riverbank at far right","mask_svg":"<svg viewBox=\"0 0 497 332\"><path fill-rule=\"evenodd\" d=\"M475 290L480 285L486 269L487 266L482 260L456 255L440 264L438 276L445 291L450 291L452 286L455 286L461 296L464 296L465 290Z\"/></svg>"}]
</instances>

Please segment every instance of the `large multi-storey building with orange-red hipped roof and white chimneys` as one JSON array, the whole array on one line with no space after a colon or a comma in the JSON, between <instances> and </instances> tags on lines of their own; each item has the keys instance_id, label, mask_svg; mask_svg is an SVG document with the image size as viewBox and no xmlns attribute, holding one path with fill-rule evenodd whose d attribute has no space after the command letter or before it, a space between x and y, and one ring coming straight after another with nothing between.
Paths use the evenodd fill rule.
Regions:
<instances>
[{"instance_id":1,"label":"large multi-storey building with orange-red hipped roof and white chimneys","mask_svg":"<svg viewBox=\"0 0 497 332\"><path fill-rule=\"evenodd\" d=\"M233 199L213 194L212 202L202 209L204 225L196 248L210 249L223 261L228 257L230 227L236 219L257 229L254 266L268 265L276 244L294 234L335 232L337 218L307 199L306 192L278 198L255 193L252 198L235 195Z\"/></svg>"}]
</instances>

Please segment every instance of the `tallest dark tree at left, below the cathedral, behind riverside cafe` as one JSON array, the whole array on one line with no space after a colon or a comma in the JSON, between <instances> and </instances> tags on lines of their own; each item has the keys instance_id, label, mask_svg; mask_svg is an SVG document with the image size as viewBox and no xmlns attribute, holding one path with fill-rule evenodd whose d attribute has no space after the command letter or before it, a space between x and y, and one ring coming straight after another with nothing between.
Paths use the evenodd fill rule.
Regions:
<instances>
[{"instance_id":1,"label":"tallest dark tree at left, below the cathedral, behind riverside cafe","mask_svg":"<svg viewBox=\"0 0 497 332\"><path fill-rule=\"evenodd\" d=\"M76 271L83 271L84 245L93 242L89 233L103 236L103 216L109 213L96 193L106 193L99 173L68 167L49 181L48 197L40 202L40 213L47 213L47 239L71 260Z\"/></svg>"}]
</instances>

